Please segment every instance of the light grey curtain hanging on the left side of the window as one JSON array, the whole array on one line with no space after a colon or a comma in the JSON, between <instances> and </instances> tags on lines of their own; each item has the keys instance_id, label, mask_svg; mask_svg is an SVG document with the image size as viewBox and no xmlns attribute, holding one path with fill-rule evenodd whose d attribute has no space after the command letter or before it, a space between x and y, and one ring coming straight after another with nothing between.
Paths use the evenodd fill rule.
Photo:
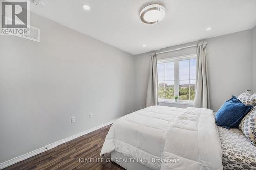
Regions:
<instances>
[{"instance_id":1,"label":"light grey curtain hanging on the left side of the window","mask_svg":"<svg viewBox=\"0 0 256 170\"><path fill-rule=\"evenodd\" d=\"M146 107L157 105L157 57L150 53L150 74L146 94Z\"/></svg>"}]
</instances>

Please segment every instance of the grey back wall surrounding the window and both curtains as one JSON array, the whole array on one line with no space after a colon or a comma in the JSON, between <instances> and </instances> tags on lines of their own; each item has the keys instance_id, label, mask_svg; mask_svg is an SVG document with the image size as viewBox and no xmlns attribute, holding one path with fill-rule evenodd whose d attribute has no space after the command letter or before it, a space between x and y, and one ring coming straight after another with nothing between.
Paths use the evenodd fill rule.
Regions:
<instances>
[{"instance_id":1,"label":"grey back wall surrounding the window and both curtains","mask_svg":"<svg viewBox=\"0 0 256 170\"><path fill-rule=\"evenodd\" d=\"M241 31L215 38L205 39L208 42L208 67L211 109L217 111L232 95L238 96L245 90L252 89L252 30ZM191 42L169 47L160 51L194 45ZM196 53L196 47L186 48L158 55L158 58L169 58ZM145 95L148 77L148 54L135 56L135 91L136 110L145 107ZM175 106L174 104L163 104Z\"/></svg>"}]
</instances>

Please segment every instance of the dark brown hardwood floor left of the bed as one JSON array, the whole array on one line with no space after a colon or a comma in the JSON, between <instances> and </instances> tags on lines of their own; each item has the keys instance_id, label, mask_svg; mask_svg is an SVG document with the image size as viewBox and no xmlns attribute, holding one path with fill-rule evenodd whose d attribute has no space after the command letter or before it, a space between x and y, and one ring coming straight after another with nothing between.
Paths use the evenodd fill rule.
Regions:
<instances>
[{"instance_id":1,"label":"dark brown hardwood floor left of the bed","mask_svg":"<svg viewBox=\"0 0 256 170\"><path fill-rule=\"evenodd\" d=\"M100 151L110 126L105 126L61 144L58 147L18 162L5 169L123 169L114 162L107 162L110 159L110 154L100 157ZM93 162L84 160L88 158L92 158ZM104 161L98 161L97 158L103 158Z\"/></svg>"}]
</instances>

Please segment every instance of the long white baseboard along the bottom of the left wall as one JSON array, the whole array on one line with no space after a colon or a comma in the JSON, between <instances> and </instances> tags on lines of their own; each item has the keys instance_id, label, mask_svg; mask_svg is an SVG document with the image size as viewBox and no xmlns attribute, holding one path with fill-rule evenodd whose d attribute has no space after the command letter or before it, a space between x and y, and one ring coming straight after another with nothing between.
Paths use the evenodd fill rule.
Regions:
<instances>
[{"instance_id":1,"label":"long white baseboard along the bottom of the left wall","mask_svg":"<svg viewBox=\"0 0 256 170\"><path fill-rule=\"evenodd\" d=\"M5 162L3 162L3 163L0 163L0 169L3 169L3 168L8 167L8 166L11 166L11 165L13 165L13 164L15 164L15 163L17 163L17 162L23 161L23 160L25 160L25 159L27 159L27 158L30 158L30 157L32 157L32 156L35 156L35 155L40 154L40 153L42 153L42 152L45 152L45 151L47 151L47 150L49 150L49 149L52 149L52 148L54 148L54 147L57 147L57 146L60 145L60 144L66 143L66 142L68 142L68 141L70 141L70 140L73 140L73 139L75 139L75 138L78 138L78 137L80 137L80 136L82 136L82 135L85 135L85 134L88 134L88 133L93 132L93 131L95 131L95 130L98 130L98 129L100 129L100 128L103 128L104 126L107 126L107 125L110 125L110 124L114 123L115 120L116 120L116 119L111 120L111 121L109 121L109 122L107 122L107 123L104 123L104 124L102 124L102 125L96 126L96 127L94 127L94 128L88 129L88 130L86 130L86 131L77 133L77 134L75 134L75 135L73 135L73 136L70 136L70 137L67 137L67 138L65 138L65 139L62 139L62 140L56 141L56 142L54 142L54 143L48 144L48 145L46 145L45 147L38 148L38 149L36 149L36 150L34 150L34 151L31 151L31 152L26 153L26 154L24 154L24 155L20 155L20 156L18 156L18 157L16 157L16 158L10 159L10 160L5 161Z\"/></svg>"}]
</instances>

